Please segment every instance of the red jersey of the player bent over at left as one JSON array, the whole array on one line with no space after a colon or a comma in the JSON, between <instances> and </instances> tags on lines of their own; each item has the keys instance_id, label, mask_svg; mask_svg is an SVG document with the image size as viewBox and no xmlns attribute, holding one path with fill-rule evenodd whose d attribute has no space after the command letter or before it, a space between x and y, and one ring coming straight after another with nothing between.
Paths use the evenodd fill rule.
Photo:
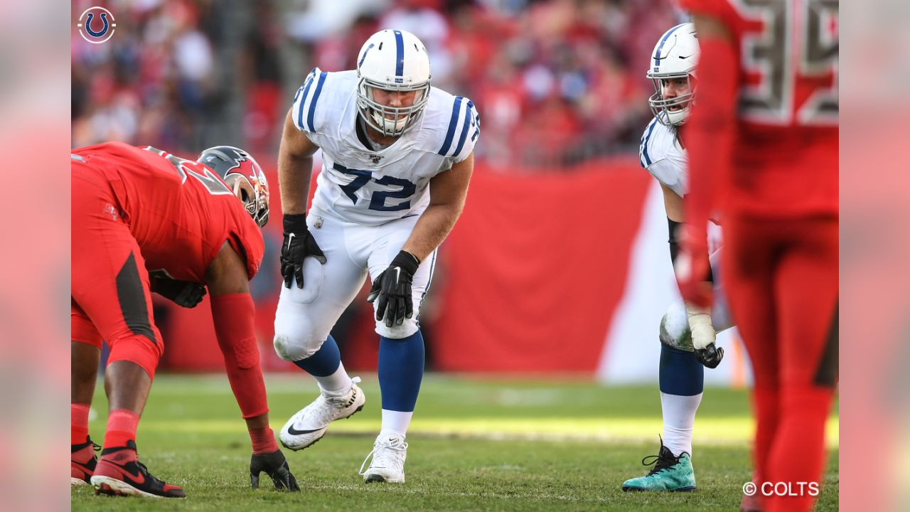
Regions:
<instances>
[{"instance_id":1,"label":"red jersey of the player bent over at left","mask_svg":"<svg viewBox=\"0 0 910 512\"><path fill-rule=\"evenodd\" d=\"M149 272L205 284L225 242L246 258L250 279L265 243L243 204L211 169L160 149L106 142L73 154L101 170Z\"/></svg>"}]
</instances>

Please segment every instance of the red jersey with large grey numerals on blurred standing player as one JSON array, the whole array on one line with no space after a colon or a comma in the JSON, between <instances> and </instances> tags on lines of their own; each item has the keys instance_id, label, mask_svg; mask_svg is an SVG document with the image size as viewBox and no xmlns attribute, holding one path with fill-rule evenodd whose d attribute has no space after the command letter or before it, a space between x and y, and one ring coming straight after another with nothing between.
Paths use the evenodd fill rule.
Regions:
<instances>
[{"instance_id":1,"label":"red jersey with large grey numerals on blurred standing player","mask_svg":"<svg viewBox=\"0 0 910 512\"><path fill-rule=\"evenodd\" d=\"M764 217L836 214L838 1L682 5L723 22L738 56L733 174L719 189L721 208Z\"/></svg>"}]
</instances>

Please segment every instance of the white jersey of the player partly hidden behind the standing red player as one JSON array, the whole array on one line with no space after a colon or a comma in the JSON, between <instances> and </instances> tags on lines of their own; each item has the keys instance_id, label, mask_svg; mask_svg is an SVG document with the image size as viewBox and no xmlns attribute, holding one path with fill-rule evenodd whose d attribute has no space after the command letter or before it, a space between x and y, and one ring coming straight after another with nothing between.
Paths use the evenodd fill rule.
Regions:
<instances>
[{"instance_id":1,"label":"white jersey of the player partly hidden behind the standing red player","mask_svg":"<svg viewBox=\"0 0 910 512\"><path fill-rule=\"evenodd\" d=\"M638 149L642 167L680 197L689 191L689 169L685 149L676 138L676 128L651 120Z\"/></svg>"}]
</instances>

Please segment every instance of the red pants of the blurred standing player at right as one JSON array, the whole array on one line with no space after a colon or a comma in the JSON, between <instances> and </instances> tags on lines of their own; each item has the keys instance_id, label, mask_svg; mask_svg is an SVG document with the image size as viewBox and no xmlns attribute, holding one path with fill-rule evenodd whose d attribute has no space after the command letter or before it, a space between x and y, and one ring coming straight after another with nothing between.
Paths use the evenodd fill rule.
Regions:
<instances>
[{"instance_id":1,"label":"red pants of the blurred standing player at right","mask_svg":"<svg viewBox=\"0 0 910 512\"><path fill-rule=\"evenodd\" d=\"M769 511L810 510L810 483L821 486L837 379L837 225L736 216L723 224L725 286L755 379L755 477ZM787 496L773 493L778 482Z\"/></svg>"}]
</instances>

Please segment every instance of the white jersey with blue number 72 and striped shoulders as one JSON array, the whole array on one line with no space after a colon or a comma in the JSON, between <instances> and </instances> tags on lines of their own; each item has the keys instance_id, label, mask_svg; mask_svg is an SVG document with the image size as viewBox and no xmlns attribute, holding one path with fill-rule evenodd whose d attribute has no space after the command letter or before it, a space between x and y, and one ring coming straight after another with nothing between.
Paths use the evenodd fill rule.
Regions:
<instances>
[{"instance_id":1,"label":"white jersey with blue number 72 and striped shoulders","mask_svg":"<svg viewBox=\"0 0 910 512\"><path fill-rule=\"evenodd\" d=\"M294 97L297 128L322 148L313 208L361 225L420 215L430 179L470 156L480 116L466 97L430 87L416 126L388 148L373 151L357 135L356 71L314 68Z\"/></svg>"}]
</instances>

